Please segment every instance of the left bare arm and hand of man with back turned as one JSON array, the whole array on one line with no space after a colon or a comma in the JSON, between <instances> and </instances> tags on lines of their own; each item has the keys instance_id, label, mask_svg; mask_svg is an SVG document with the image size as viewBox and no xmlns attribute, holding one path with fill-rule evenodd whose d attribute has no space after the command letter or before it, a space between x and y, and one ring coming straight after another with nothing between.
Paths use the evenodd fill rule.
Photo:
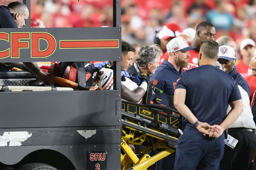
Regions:
<instances>
[{"instance_id":1,"label":"left bare arm and hand of man with back turned","mask_svg":"<svg viewBox=\"0 0 256 170\"><path fill-rule=\"evenodd\" d=\"M196 116L190 111L190 109L185 105L185 99L186 99L186 89L178 88L174 91L174 106L175 108L180 112L182 116L184 116L192 125L196 123L198 120ZM210 135L210 132L216 133L216 129L213 129L212 126L210 126L206 122L199 122L196 125L196 129L198 131Z\"/></svg>"}]
</instances>

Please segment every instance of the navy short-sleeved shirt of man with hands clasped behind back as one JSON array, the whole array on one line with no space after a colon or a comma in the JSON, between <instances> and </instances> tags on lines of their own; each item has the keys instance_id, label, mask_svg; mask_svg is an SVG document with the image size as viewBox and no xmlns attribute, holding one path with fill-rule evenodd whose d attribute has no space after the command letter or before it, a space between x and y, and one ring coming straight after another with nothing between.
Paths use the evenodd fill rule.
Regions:
<instances>
[{"instance_id":1,"label":"navy short-sleeved shirt of man with hands clasped behind back","mask_svg":"<svg viewBox=\"0 0 256 170\"><path fill-rule=\"evenodd\" d=\"M186 89L185 104L200 122L219 125L227 115L228 103L241 99L237 83L212 65L187 70L180 75L176 89ZM192 126L184 117L184 125Z\"/></svg>"}]
</instances>

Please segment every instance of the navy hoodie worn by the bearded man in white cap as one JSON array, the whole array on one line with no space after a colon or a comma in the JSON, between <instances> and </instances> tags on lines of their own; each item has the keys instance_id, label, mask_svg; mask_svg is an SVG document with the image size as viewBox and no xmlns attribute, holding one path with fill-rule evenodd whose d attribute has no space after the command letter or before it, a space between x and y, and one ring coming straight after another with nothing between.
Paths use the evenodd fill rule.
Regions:
<instances>
[{"instance_id":1,"label":"navy hoodie worn by the bearded man in white cap","mask_svg":"<svg viewBox=\"0 0 256 170\"><path fill-rule=\"evenodd\" d=\"M155 73L151 74L149 78L152 86L155 86L159 90L163 90L173 98L177 79L182 72L181 68L177 71L168 60L165 60L164 63L156 68Z\"/></svg>"}]
</instances>

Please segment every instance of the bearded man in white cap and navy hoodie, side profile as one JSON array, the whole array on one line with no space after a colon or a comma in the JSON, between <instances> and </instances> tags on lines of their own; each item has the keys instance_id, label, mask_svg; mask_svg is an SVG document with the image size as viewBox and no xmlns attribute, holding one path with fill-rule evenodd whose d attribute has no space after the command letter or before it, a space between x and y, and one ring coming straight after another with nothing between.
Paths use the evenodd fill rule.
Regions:
<instances>
[{"instance_id":1,"label":"bearded man in white cap and navy hoodie, side profile","mask_svg":"<svg viewBox=\"0 0 256 170\"><path fill-rule=\"evenodd\" d=\"M157 89L164 91L173 98L176 81L183 72L182 67L188 66L189 50L196 47L190 47L184 38L174 38L167 45L169 59L157 67L155 74L150 75L150 82Z\"/></svg>"}]
</instances>

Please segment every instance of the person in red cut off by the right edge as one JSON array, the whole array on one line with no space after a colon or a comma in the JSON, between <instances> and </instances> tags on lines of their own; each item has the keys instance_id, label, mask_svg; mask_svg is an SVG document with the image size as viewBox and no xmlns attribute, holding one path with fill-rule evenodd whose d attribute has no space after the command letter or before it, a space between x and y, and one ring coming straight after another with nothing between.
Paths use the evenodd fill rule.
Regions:
<instances>
[{"instance_id":1,"label":"person in red cut off by the right edge","mask_svg":"<svg viewBox=\"0 0 256 170\"><path fill-rule=\"evenodd\" d=\"M250 103L252 102L252 97L256 90L256 56L254 56L251 60L251 70L252 70L252 75L249 75L244 78L250 87Z\"/></svg>"}]
</instances>

